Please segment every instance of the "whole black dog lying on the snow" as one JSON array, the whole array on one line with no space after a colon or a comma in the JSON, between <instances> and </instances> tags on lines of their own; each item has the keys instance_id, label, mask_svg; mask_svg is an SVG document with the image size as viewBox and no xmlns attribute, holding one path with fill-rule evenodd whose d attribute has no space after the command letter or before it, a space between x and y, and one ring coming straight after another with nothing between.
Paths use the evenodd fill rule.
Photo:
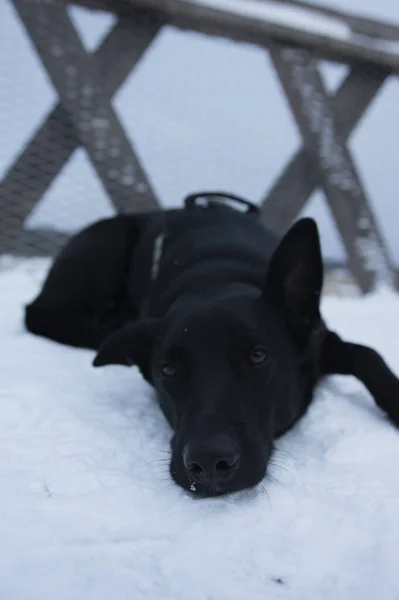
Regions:
<instances>
[{"instance_id":1,"label":"whole black dog lying on the snow","mask_svg":"<svg viewBox=\"0 0 399 600\"><path fill-rule=\"evenodd\" d=\"M194 200L78 234L27 307L27 328L98 350L97 367L137 365L175 432L171 475L200 496L258 484L325 375L357 377L399 425L399 379L321 318L314 221L278 243L253 207Z\"/></svg>"}]
</instances>

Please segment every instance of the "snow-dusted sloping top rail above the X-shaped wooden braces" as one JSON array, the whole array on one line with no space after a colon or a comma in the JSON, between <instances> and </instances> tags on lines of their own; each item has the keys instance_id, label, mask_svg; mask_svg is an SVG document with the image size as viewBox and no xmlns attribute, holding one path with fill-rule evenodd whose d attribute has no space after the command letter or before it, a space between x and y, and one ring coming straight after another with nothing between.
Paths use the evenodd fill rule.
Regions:
<instances>
[{"instance_id":1,"label":"snow-dusted sloping top rail above the X-shaped wooden braces","mask_svg":"<svg viewBox=\"0 0 399 600\"><path fill-rule=\"evenodd\" d=\"M83 3L87 5L87 2ZM247 8L242 12L234 12L237 2L232 3L229 10L195 0L115 0L115 3L113 0L91 0L89 4L92 8L120 11L123 14L127 14L132 7L141 7L162 15L169 25L180 29L265 48L274 40L291 46L303 46L326 60L350 64L369 62L399 72L399 48L396 45L345 35L344 32L336 35L333 28L331 34L327 34L318 32L316 28L301 28L300 24L291 26L271 18L249 15ZM245 7L245 0L242 0L242 5Z\"/></svg>"}]
</instances>

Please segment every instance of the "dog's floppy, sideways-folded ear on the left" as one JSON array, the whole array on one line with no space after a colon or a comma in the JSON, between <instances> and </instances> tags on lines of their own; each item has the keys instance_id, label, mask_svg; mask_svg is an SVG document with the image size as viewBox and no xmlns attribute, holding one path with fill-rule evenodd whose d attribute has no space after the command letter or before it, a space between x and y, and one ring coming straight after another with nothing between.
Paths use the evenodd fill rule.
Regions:
<instances>
[{"instance_id":1,"label":"dog's floppy, sideways-folded ear on the left","mask_svg":"<svg viewBox=\"0 0 399 600\"><path fill-rule=\"evenodd\" d=\"M158 319L144 319L118 329L101 344L93 366L137 365L148 379L152 347L158 332Z\"/></svg>"}]
</instances>

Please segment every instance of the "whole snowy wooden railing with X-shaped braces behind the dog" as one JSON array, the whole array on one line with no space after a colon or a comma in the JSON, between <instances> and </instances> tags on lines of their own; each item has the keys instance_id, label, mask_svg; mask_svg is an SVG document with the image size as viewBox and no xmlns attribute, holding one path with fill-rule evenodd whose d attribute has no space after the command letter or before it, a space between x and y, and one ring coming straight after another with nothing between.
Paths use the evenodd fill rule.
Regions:
<instances>
[{"instance_id":1,"label":"whole snowy wooden railing with X-shaped braces behind the dog","mask_svg":"<svg viewBox=\"0 0 399 600\"><path fill-rule=\"evenodd\" d=\"M118 212L158 206L111 98L163 25L256 44L270 53L303 147L264 199L281 233L321 187L363 292L398 287L387 247L346 141L387 78L399 72L399 28L299 0L77 0L118 15L98 50L84 48L63 0L12 0L55 89L47 116L0 182L0 253L52 255L66 236L24 221L73 151L84 147ZM335 96L320 59L351 69ZM259 116L262 118L262 115Z\"/></svg>"}]
</instances>

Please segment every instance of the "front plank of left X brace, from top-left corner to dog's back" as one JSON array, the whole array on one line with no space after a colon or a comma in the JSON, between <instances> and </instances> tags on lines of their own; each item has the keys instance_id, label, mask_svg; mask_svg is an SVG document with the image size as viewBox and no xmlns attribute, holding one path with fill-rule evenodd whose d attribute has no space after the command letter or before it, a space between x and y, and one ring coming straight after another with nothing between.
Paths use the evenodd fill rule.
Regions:
<instances>
[{"instance_id":1,"label":"front plank of left X brace, from top-left corner to dog's back","mask_svg":"<svg viewBox=\"0 0 399 600\"><path fill-rule=\"evenodd\" d=\"M57 0L13 0L62 104L118 212L158 206L142 165L87 55Z\"/></svg>"}]
</instances>

